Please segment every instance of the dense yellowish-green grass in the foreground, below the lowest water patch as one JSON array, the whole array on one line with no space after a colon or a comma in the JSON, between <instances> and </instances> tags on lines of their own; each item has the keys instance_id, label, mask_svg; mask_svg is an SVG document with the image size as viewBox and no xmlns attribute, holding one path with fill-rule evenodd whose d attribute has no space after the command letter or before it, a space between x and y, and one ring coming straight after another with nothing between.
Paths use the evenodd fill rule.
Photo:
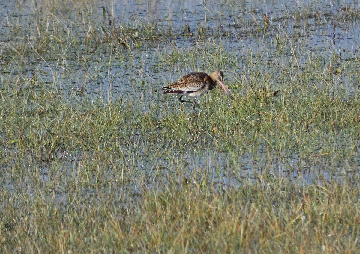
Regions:
<instances>
[{"instance_id":1,"label":"dense yellowish-green grass in the foreground, below the lowest water patch","mask_svg":"<svg viewBox=\"0 0 360 254\"><path fill-rule=\"evenodd\" d=\"M5 193L3 250L52 252L56 246L60 252L346 249L353 253L358 249L359 225L354 222L360 216L359 193L350 185L298 188L272 177L218 191L172 184L160 192L128 194L130 203L112 192L92 193L73 192L62 202L49 200L44 193L36 198ZM99 200L102 205L96 204Z\"/></svg>"}]
</instances>

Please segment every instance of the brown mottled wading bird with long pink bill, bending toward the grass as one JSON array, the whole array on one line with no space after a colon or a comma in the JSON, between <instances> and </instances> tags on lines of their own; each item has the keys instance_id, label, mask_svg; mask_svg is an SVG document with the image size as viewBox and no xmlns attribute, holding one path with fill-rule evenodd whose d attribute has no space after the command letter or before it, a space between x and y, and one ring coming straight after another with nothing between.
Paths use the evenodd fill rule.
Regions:
<instances>
[{"instance_id":1,"label":"brown mottled wading bird with long pink bill, bending toward the grass","mask_svg":"<svg viewBox=\"0 0 360 254\"><path fill-rule=\"evenodd\" d=\"M193 97L194 102L193 106L198 105L195 101L197 97L202 96L207 91L210 91L216 87L216 83L219 83L220 86L225 90L225 92L230 96L228 89L226 88L224 82L224 73L220 70L216 70L213 73L207 75L203 72L193 72L186 74L182 77L179 81L172 83L170 86L163 87L164 93L174 93L174 94L181 94L179 101L183 102L191 102L181 100L183 96ZM232 97L230 96L232 99Z\"/></svg>"}]
</instances>

